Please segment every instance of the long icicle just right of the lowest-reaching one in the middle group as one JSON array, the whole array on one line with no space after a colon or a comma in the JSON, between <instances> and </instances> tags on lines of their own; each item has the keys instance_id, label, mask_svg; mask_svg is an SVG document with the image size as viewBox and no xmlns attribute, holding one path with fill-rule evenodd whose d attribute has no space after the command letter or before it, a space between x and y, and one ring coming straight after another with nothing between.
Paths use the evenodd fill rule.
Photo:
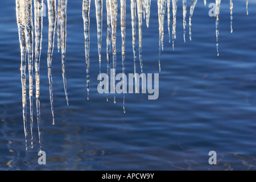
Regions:
<instances>
[{"instance_id":1,"label":"long icicle just right of the lowest-reaching one in the middle group","mask_svg":"<svg viewBox=\"0 0 256 182\"><path fill-rule=\"evenodd\" d=\"M134 76L135 76L135 92L138 92L137 88L137 75L136 75L136 2L137 0L131 0L131 27L133 32L133 61L134 61Z\"/></svg>"}]
</instances>

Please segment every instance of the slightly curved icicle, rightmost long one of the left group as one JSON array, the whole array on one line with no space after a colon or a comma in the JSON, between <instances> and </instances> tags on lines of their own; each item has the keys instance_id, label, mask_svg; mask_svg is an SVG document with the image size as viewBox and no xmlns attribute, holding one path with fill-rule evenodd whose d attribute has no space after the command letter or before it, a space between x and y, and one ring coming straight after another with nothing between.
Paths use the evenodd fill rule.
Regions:
<instances>
[{"instance_id":1,"label":"slightly curved icicle, rightmost long one of the left group","mask_svg":"<svg viewBox=\"0 0 256 182\"><path fill-rule=\"evenodd\" d=\"M62 69L63 85L65 90L65 97L68 105L68 89L67 89L67 79L66 79L66 71L65 71L66 40L67 40L67 4L68 4L68 0L61 1L60 30L61 30L61 69Z\"/></svg>"}]
</instances>

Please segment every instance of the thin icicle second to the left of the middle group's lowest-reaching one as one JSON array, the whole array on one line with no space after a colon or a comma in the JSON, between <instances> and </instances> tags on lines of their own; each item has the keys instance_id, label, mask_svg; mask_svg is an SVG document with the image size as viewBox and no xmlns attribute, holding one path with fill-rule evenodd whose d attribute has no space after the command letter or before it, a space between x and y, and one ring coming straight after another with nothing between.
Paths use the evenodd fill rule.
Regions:
<instances>
[{"instance_id":1,"label":"thin icicle second to the left of the middle group's lowest-reaching one","mask_svg":"<svg viewBox=\"0 0 256 182\"><path fill-rule=\"evenodd\" d=\"M107 75L110 77L110 49L112 42L112 27L111 27L111 19L110 19L110 1L106 0L106 10L107 10L107 37L106 37L106 59L107 59ZM109 85L107 86L107 93L109 93ZM109 101L107 94L107 102Z\"/></svg>"}]
</instances>

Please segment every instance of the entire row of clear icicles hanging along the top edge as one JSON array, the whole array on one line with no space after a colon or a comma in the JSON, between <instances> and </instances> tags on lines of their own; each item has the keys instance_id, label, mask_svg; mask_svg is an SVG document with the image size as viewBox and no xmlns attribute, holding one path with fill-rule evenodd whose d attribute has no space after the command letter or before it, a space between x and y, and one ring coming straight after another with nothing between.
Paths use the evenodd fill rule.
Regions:
<instances>
[{"instance_id":1,"label":"entire row of clear icicles hanging along the top edge","mask_svg":"<svg viewBox=\"0 0 256 182\"><path fill-rule=\"evenodd\" d=\"M230 0L230 28L232 28L233 19L233 0ZM94 0L96 7L96 21L97 21L97 38L98 38L98 60L101 73L101 42L102 42L102 7L103 2L106 3L107 13L107 37L106 37L106 60L107 70L106 72L110 76L110 51L112 45L112 60L113 60L113 83L115 85L115 70L116 70L116 36L117 36L117 15L118 15L118 2L117 0ZM137 49L136 49L136 27L137 27L137 15L138 15L138 28L139 28L139 63L141 66L141 72L143 72L142 61L142 20L146 19L146 25L149 26L150 22L150 6L151 0L130 0L131 7L131 26L132 26L132 45L134 53L134 73L137 72ZM189 15L189 39L192 37L192 16L195 10L197 0L192 0L190 6ZM204 0L206 5L207 0ZM220 14L221 0L216 0L216 46L218 53L218 22ZM66 39L67 39L67 0L58 0L56 6L56 0L47 0L48 5L48 79L49 79L49 97L51 101L52 122L54 121L53 113L53 93L52 93L52 74L51 63L55 40L55 31L57 27L57 49L61 50L61 68L63 75L63 84L65 90L65 97L68 105L68 92L67 81L65 75L65 52L66 52ZM122 73L125 74L125 27L126 27L126 0L120 0L121 5L121 36L122 36ZM164 45L164 16L167 9L168 18L168 33L169 42L171 42L172 32L172 48L174 49L174 40L176 39L176 13L177 13L177 0L172 0L172 28L170 28L171 22L171 0L158 0L158 22L159 22L159 71L160 67L160 52L163 51ZM246 0L246 10L248 14L248 0ZM31 147L33 147L33 61L35 60L35 85L36 85L36 113L38 121L38 136L40 142L40 77L39 77L39 65L42 48L42 29L43 29L43 0L34 0L34 23L33 24L33 10L32 0L16 0L16 19L19 31L20 42L20 55L21 55L21 82L22 82L22 104L23 104L23 123L24 133L26 139L27 150L27 90L26 90L26 56L28 57L28 73L29 73L29 100L30 100L30 127L31 127ZM186 34L186 14L187 14L187 0L183 0L183 27L184 27L184 42ZM90 0L83 0L82 2L82 18L84 19L84 36L85 36L85 61L86 61L86 87L88 90L89 100L89 84L90 84L90 59L89 59L89 46L90 46ZM35 26L35 59L34 59L34 26ZM135 75L136 76L136 75ZM137 79L135 79L137 81ZM137 85L137 83L135 83ZM115 88L115 86L114 86ZM135 89L137 89L135 87ZM108 96L107 96L108 101ZM115 103L115 95L114 95ZM123 112L125 112L125 94L123 94Z\"/></svg>"}]
</instances>

